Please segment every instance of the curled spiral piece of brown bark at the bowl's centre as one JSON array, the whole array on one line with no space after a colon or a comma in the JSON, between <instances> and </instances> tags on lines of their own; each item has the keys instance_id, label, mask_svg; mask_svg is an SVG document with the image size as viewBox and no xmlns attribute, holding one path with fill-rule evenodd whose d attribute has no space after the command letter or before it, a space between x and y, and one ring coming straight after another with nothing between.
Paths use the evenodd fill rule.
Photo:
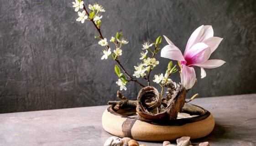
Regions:
<instances>
[{"instance_id":1,"label":"curled spiral piece of brown bark at the bowl's centre","mask_svg":"<svg viewBox=\"0 0 256 146\"><path fill-rule=\"evenodd\" d=\"M138 104L136 111L138 116L145 120L161 120L161 119L176 119L178 112L181 111L182 107L185 104L186 89L181 84L176 84L175 82L170 82L166 85L168 88L168 94L166 98L162 98L156 88L152 86L147 86L141 89L138 94ZM157 113L154 113L145 106L145 96L152 94L154 96L147 97L155 99L155 103L161 101L161 104L156 104L157 108L160 107L160 110L157 109ZM144 104L143 104L144 103ZM156 107L154 106L154 107Z\"/></svg>"}]
</instances>

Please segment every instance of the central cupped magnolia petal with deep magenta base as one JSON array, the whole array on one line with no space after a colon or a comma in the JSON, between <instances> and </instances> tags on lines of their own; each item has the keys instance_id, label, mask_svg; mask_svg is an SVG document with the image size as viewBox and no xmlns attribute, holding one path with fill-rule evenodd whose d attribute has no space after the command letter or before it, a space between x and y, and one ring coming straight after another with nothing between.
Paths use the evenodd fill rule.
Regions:
<instances>
[{"instance_id":1,"label":"central cupped magnolia petal with deep magenta base","mask_svg":"<svg viewBox=\"0 0 256 146\"><path fill-rule=\"evenodd\" d=\"M184 55L185 60L187 61L186 65L192 66L194 64L203 63L209 59L211 55L211 49L208 45L204 43L197 43L193 45Z\"/></svg>"}]
</instances>

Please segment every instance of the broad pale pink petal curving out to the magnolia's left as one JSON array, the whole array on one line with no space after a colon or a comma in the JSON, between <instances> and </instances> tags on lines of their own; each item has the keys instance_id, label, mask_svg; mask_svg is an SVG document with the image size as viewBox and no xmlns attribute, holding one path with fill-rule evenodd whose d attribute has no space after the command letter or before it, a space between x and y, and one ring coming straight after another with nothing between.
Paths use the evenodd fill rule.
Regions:
<instances>
[{"instance_id":1,"label":"broad pale pink petal curving out to the magnolia's left","mask_svg":"<svg viewBox=\"0 0 256 146\"><path fill-rule=\"evenodd\" d=\"M182 60L185 61L181 51L175 45L166 45L161 50L161 57L168 58L171 60Z\"/></svg>"}]
</instances>

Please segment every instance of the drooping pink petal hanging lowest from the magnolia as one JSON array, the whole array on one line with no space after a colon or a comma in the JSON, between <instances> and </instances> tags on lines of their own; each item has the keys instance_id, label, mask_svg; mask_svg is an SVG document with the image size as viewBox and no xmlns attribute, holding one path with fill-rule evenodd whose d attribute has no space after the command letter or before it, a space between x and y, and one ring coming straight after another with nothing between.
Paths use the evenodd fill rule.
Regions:
<instances>
[{"instance_id":1,"label":"drooping pink petal hanging lowest from the magnolia","mask_svg":"<svg viewBox=\"0 0 256 146\"><path fill-rule=\"evenodd\" d=\"M196 82L196 73L193 67L183 65L181 73L181 84L186 90L192 88Z\"/></svg>"}]
</instances>

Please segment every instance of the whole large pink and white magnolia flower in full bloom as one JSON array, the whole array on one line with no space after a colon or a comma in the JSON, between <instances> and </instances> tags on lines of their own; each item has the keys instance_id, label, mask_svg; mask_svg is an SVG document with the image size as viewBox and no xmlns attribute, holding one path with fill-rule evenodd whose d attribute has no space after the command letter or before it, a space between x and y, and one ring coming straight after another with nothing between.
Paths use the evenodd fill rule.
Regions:
<instances>
[{"instance_id":1,"label":"whole large pink and white magnolia flower in full bloom","mask_svg":"<svg viewBox=\"0 0 256 146\"><path fill-rule=\"evenodd\" d=\"M188 39L183 55L179 48L163 35L169 45L162 48L161 57L180 61L182 67L181 83L187 90L192 88L196 81L193 66L201 67L201 78L204 78L206 76L204 68L216 68L225 63L223 60L208 60L222 40L222 38L213 35L211 25L200 26Z\"/></svg>"}]
</instances>

